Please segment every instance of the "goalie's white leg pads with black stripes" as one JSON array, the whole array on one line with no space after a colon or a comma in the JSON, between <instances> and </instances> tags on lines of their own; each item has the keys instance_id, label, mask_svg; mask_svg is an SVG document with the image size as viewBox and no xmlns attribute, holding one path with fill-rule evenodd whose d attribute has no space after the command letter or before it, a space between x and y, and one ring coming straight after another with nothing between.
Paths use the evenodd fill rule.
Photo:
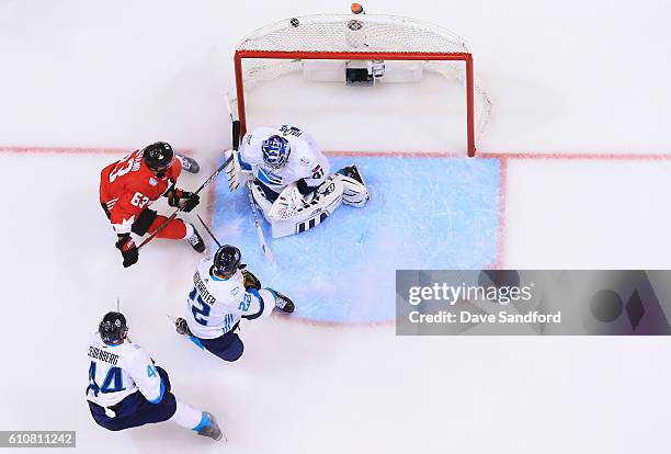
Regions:
<instances>
[{"instance_id":1,"label":"goalie's white leg pads with black stripes","mask_svg":"<svg viewBox=\"0 0 671 454\"><path fill-rule=\"evenodd\" d=\"M336 175L321 183L311 200L304 200L295 183L286 186L274 203L252 183L252 196L271 225L273 238L300 234L321 224L342 204L344 184Z\"/></svg>"}]
</instances>

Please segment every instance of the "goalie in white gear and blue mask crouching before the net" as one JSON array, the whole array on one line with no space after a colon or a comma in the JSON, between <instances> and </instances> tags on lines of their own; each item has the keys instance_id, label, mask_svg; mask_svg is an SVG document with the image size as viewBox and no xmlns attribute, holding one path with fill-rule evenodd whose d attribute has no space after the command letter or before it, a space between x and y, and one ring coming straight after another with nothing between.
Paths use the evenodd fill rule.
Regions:
<instances>
[{"instance_id":1,"label":"goalie in white gear and blue mask crouching before the net","mask_svg":"<svg viewBox=\"0 0 671 454\"><path fill-rule=\"evenodd\" d=\"M323 178L328 159L312 137L295 126L260 127L241 141L227 169L229 189L252 182L252 197L273 238L309 230L341 204L363 207L369 198L356 166Z\"/></svg>"}]
</instances>

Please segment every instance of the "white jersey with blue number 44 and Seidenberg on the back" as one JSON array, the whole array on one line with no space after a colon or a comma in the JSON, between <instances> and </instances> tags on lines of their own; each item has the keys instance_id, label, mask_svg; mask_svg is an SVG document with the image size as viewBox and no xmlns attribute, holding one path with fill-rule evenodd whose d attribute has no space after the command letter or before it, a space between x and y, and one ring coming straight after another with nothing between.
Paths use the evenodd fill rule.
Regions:
<instances>
[{"instance_id":1,"label":"white jersey with blue number 44 and Seidenberg on the back","mask_svg":"<svg viewBox=\"0 0 671 454\"><path fill-rule=\"evenodd\" d=\"M89 386L87 399L111 407L137 391L158 404L163 398L163 382L151 359L137 344L126 340L109 345L95 332L89 342Z\"/></svg>"}]
</instances>

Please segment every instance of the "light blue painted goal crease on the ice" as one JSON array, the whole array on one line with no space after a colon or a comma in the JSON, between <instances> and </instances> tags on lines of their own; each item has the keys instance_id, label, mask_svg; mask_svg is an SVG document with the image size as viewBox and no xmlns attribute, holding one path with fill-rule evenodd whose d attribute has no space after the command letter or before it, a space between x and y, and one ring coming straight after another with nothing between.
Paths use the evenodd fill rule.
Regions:
<instances>
[{"instance_id":1,"label":"light blue painted goal crease on the ice","mask_svg":"<svg viewBox=\"0 0 671 454\"><path fill-rule=\"evenodd\" d=\"M496 262L499 160L465 158L331 158L355 162L371 191L364 208L342 205L323 224L272 239L270 265L259 247L247 190L214 186L213 230L242 251L264 286L289 296L297 315L319 321L394 319L395 271L480 269ZM212 246L212 245L211 245Z\"/></svg>"}]
</instances>

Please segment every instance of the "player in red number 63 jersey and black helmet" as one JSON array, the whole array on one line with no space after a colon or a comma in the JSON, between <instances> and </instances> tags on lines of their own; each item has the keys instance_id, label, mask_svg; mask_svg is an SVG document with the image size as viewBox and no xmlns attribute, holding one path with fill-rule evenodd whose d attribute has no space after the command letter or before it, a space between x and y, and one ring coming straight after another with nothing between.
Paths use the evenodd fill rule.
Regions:
<instances>
[{"instance_id":1,"label":"player in red number 63 jersey and black helmet","mask_svg":"<svg viewBox=\"0 0 671 454\"><path fill-rule=\"evenodd\" d=\"M182 167L190 171L197 169L195 161L182 159L184 164L169 144L157 141L102 170L100 204L118 237L116 248L122 252L124 266L130 266L138 259L133 235L137 238L152 232L168 219L149 208L153 201L162 195L168 197L170 206L182 206L184 212L191 212L198 204L197 194L175 186ZM194 226L180 218L168 224L157 238L186 239L196 251L205 251L205 242Z\"/></svg>"}]
</instances>

